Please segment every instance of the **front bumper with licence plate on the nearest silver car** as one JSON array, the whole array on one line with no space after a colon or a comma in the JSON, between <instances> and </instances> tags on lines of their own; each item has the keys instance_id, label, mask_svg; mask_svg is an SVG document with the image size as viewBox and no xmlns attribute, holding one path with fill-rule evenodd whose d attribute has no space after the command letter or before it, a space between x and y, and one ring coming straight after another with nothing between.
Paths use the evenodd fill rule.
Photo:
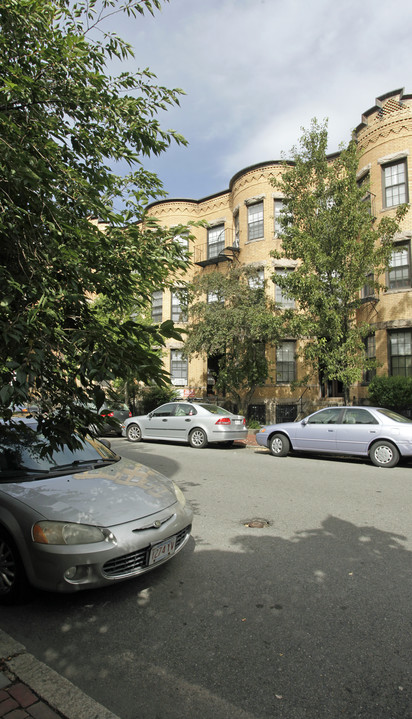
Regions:
<instances>
[{"instance_id":1,"label":"front bumper with licence plate on the nearest silver car","mask_svg":"<svg viewBox=\"0 0 412 719\"><path fill-rule=\"evenodd\" d=\"M144 574L183 549L192 519L192 510L177 504L148 517L146 526L150 527L141 528L141 520L108 527L115 541L81 546L32 544L30 582L40 589L70 593ZM156 522L160 527L153 526Z\"/></svg>"}]
</instances>

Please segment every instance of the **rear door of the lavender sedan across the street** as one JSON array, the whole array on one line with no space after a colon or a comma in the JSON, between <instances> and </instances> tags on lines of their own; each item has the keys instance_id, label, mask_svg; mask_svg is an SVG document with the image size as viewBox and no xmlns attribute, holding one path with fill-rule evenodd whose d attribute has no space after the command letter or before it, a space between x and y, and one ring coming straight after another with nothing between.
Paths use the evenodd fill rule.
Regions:
<instances>
[{"instance_id":1,"label":"rear door of the lavender sedan across the street","mask_svg":"<svg viewBox=\"0 0 412 719\"><path fill-rule=\"evenodd\" d=\"M337 426L336 449L345 454L367 454L372 439L380 434L380 424L372 412L361 407L345 409Z\"/></svg>"}]
</instances>

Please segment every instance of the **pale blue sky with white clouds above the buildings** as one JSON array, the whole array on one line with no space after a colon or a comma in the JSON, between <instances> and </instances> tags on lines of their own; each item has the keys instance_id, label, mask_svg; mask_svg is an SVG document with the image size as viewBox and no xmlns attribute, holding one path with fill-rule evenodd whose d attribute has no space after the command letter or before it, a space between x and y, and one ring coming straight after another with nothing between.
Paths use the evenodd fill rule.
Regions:
<instances>
[{"instance_id":1,"label":"pale blue sky with white clouds above the buildings","mask_svg":"<svg viewBox=\"0 0 412 719\"><path fill-rule=\"evenodd\" d=\"M202 199L288 156L315 117L335 152L376 97L412 92L410 0L170 0L112 22L134 48L123 69L186 93L159 121L188 146L144 161L170 198Z\"/></svg>"}]
</instances>

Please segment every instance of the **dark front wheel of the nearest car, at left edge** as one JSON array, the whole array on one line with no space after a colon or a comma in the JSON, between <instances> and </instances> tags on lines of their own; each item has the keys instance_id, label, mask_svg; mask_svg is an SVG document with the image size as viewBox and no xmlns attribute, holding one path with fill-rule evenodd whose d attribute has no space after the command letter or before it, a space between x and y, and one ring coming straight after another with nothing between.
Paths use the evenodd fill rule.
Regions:
<instances>
[{"instance_id":1,"label":"dark front wheel of the nearest car, at left edge","mask_svg":"<svg viewBox=\"0 0 412 719\"><path fill-rule=\"evenodd\" d=\"M0 529L0 604L17 604L27 595L28 586L16 545Z\"/></svg>"}]
</instances>

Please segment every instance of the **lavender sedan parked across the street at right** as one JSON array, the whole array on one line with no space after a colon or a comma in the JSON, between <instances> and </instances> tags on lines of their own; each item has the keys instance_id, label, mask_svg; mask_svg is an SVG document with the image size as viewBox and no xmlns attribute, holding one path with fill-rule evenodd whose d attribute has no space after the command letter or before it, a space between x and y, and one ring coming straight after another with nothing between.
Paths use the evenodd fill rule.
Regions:
<instances>
[{"instance_id":1,"label":"lavender sedan parked across the street at right","mask_svg":"<svg viewBox=\"0 0 412 719\"><path fill-rule=\"evenodd\" d=\"M296 422L262 427L257 443L275 457L291 451L350 454L377 467L412 457L412 421L379 407L328 407Z\"/></svg>"}]
</instances>

